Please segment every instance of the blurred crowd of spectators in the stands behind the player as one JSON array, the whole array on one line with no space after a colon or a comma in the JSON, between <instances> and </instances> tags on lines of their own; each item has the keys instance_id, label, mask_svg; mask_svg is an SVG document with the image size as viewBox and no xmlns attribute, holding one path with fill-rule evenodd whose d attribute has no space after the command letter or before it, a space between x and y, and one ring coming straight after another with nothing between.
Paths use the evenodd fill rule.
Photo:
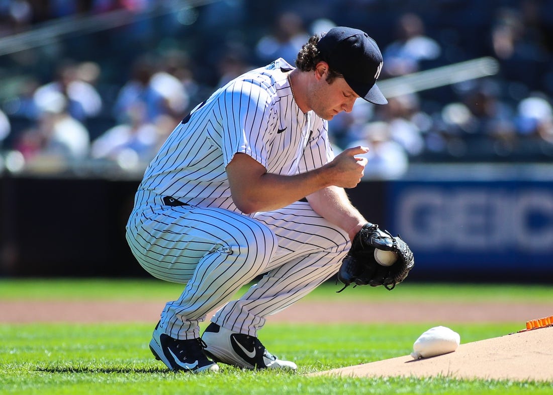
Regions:
<instances>
[{"instance_id":1,"label":"blurred crowd of spectators in the stands behind the player","mask_svg":"<svg viewBox=\"0 0 553 395\"><path fill-rule=\"evenodd\" d=\"M80 29L114 13L124 23ZM4 0L0 19L0 48L22 40L0 55L0 169L139 173L216 87L279 56L293 64L333 25L377 40L380 81L483 56L499 63L492 76L386 106L358 101L335 117L337 152L371 148L367 178L400 178L411 163L553 159L550 1ZM57 32L61 20L69 28ZM46 39L25 41L30 30Z\"/></svg>"}]
</instances>

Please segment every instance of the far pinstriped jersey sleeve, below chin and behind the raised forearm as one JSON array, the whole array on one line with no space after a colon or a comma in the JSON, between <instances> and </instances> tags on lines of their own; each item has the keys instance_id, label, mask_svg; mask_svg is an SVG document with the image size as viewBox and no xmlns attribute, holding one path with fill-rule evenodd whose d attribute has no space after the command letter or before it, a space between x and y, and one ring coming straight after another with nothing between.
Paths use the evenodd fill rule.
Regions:
<instances>
[{"instance_id":1,"label":"far pinstriped jersey sleeve, below chin and behind the raised forearm","mask_svg":"<svg viewBox=\"0 0 553 395\"><path fill-rule=\"evenodd\" d=\"M299 173L320 168L332 159L334 159L334 152L328 140L328 122L316 117L304 155L300 160Z\"/></svg>"}]
</instances>

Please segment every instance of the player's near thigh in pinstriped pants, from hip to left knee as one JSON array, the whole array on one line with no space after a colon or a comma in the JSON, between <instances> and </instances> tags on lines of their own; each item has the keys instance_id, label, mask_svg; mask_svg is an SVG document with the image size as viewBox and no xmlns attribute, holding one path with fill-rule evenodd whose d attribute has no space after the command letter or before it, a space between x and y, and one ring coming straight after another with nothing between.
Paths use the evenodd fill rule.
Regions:
<instances>
[{"instance_id":1,"label":"player's near thigh in pinstriped pants, from hip to left knee","mask_svg":"<svg viewBox=\"0 0 553 395\"><path fill-rule=\"evenodd\" d=\"M276 248L267 226L225 209L178 206L133 215L127 232L131 250L148 272L166 280L187 282L200 259L214 251L270 256Z\"/></svg>"}]
</instances>

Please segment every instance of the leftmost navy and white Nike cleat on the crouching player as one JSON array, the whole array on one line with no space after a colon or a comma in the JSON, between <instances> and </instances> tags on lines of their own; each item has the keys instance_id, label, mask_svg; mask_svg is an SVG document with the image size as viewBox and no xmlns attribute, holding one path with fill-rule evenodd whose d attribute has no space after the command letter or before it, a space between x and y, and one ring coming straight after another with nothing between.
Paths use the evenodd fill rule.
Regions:
<instances>
[{"instance_id":1,"label":"leftmost navy and white Nike cleat on the crouching player","mask_svg":"<svg viewBox=\"0 0 553 395\"><path fill-rule=\"evenodd\" d=\"M200 338L177 340L166 335L158 325L155 326L150 350L155 359L165 363L169 370L199 373L204 371L216 372L217 363L207 359L204 352L205 343Z\"/></svg>"}]
</instances>

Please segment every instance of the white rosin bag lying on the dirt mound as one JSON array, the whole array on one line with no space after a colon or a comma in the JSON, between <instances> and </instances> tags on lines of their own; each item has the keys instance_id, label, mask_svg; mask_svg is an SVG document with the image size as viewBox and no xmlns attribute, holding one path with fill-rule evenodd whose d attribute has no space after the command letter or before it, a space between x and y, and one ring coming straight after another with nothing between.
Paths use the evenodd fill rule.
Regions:
<instances>
[{"instance_id":1,"label":"white rosin bag lying on the dirt mound","mask_svg":"<svg viewBox=\"0 0 553 395\"><path fill-rule=\"evenodd\" d=\"M461 336L457 332L445 326L435 326L419 336L413 344L411 356L418 360L447 354L457 350L460 342Z\"/></svg>"}]
</instances>

